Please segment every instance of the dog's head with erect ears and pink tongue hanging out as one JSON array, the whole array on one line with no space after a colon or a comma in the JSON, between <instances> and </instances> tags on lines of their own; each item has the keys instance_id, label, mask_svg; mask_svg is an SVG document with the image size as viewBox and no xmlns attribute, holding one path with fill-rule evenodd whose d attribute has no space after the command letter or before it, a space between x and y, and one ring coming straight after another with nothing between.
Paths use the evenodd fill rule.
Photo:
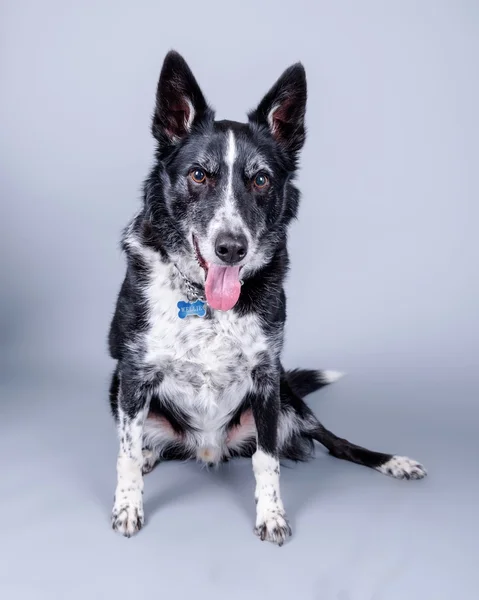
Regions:
<instances>
[{"instance_id":1,"label":"dog's head with erect ears and pink tongue hanging out","mask_svg":"<svg viewBox=\"0 0 479 600\"><path fill-rule=\"evenodd\" d=\"M305 108L305 72L295 64L246 124L215 121L184 59L176 52L165 58L152 124L156 181L150 179L146 201L152 225L156 213L172 228L170 257L192 280L202 283L206 276L213 308L232 308L240 280L285 245L299 199L292 180L305 139Z\"/></svg>"}]
</instances>

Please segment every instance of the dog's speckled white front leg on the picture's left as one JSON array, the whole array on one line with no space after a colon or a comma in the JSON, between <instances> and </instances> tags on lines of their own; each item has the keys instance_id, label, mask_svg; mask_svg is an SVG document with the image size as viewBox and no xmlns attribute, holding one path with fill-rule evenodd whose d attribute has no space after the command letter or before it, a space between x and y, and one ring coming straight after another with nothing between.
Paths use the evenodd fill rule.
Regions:
<instances>
[{"instance_id":1,"label":"dog's speckled white front leg on the picture's left","mask_svg":"<svg viewBox=\"0 0 479 600\"><path fill-rule=\"evenodd\" d=\"M149 393L145 386L120 371L118 392L117 486L111 524L115 531L130 537L139 531L143 514L143 424L148 413Z\"/></svg>"}]
</instances>

